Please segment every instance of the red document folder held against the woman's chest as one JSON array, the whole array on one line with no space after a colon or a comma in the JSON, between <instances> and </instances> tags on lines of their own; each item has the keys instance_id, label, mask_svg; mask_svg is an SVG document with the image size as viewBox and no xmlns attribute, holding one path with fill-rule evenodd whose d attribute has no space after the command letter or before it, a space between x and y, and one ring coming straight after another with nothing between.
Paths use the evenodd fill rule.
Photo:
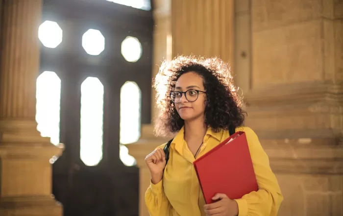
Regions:
<instances>
[{"instance_id":1,"label":"red document folder held against the woman's chest","mask_svg":"<svg viewBox=\"0 0 343 216\"><path fill-rule=\"evenodd\" d=\"M193 164L206 203L215 202L216 193L239 199L258 190L245 132L236 132Z\"/></svg>"}]
</instances>

